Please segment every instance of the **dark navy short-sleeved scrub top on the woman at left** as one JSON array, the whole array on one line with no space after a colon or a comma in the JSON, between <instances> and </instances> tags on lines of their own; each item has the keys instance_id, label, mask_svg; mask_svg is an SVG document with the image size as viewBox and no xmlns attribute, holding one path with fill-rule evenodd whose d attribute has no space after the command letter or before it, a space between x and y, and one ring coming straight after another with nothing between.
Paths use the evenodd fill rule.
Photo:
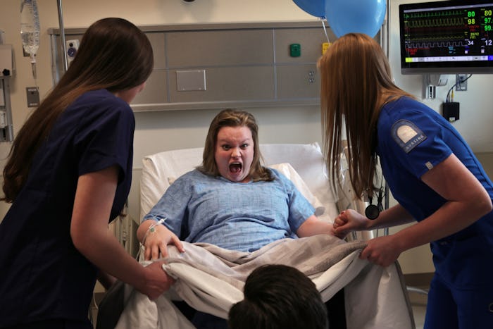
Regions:
<instances>
[{"instance_id":1,"label":"dark navy short-sleeved scrub top on the woman at left","mask_svg":"<svg viewBox=\"0 0 493 329\"><path fill-rule=\"evenodd\" d=\"M106 89L83 94L57 120L0 224L0 327L87 321L97 268L70 239L77 179L118 166L108 221L116 218L130 191L134 130L130 106Z\"/></svg>"}]
</instances>

